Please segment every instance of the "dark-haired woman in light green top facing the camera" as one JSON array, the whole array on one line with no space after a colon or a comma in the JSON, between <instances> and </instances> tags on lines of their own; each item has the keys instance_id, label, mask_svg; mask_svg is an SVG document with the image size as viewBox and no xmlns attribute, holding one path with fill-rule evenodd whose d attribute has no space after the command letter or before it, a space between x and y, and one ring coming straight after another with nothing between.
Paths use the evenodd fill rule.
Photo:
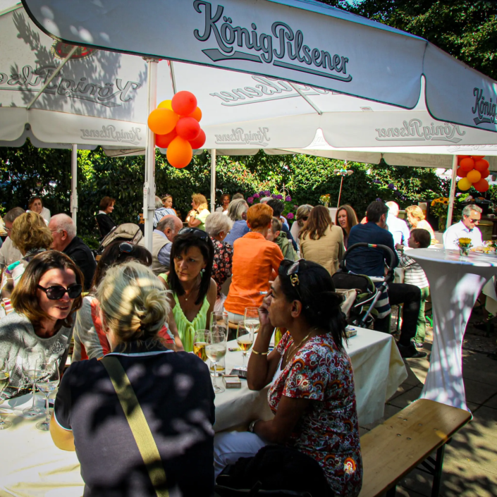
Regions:
<instances>
[{"instance_id":1,"label":"dark-haired woman in light green top facing the camera","mask_svg":"<svg viewBox=\"0 0 497 497\"><path fill-rule=\"evenodd\" d=\"M182 228L171 247L168 274L159 274L171 290L168 325L187 352L193 350L195 331L209 329L216 304L217 287L211 278L214 245L209 235L197 228Z\"/></svg>"}]
</instances>

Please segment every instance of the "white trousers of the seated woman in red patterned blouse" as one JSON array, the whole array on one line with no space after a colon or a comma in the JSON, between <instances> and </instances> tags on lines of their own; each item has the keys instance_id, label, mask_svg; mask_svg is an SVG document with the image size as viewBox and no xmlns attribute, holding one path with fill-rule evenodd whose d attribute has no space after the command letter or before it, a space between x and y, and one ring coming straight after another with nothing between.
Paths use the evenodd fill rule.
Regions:
<instances>
[{"instance_id":1,"label":"white trousers of the seated woman in red patterned blouse","mask_svg":"<svg viewBox=\"0 0 497 497\"><path fill-rule=\"evenodd\" d=\"M256 455L266 443L250 431L231 431L214 436L214 478L228 464Z\"/></svg>"}]
</instances>

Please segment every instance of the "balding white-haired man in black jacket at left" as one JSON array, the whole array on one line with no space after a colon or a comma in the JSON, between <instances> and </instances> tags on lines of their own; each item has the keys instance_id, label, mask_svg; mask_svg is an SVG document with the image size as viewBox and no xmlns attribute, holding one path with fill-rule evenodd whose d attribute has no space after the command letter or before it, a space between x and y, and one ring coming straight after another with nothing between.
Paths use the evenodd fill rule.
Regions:
<instances>
[{"instance_id":1,"label":"balding white-haired man in black jacket at left","mask_svg":"<svg viewBox=\"0 0 497 497\"><path fill-rule=\"evenodd\" d=\"M49 230L54 238L51 248L73 259L85 276L85 290L90 290L97 263L90 248L76 236L74 221L67 214L56 214L50 219Z\"/></svg>"}]
</instances>

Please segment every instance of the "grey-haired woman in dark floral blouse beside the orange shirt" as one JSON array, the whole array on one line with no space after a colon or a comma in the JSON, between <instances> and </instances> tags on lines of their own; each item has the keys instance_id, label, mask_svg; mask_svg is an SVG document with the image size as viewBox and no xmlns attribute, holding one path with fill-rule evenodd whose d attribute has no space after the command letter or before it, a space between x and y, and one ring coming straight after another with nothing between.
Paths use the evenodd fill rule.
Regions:
<instances>
[{"instance_id":1,"label":"grey-haired woman in dark floral blouse beside the orange shirt","mask_svg":"<svg viewBox=\"0 0 497 497\"><path fill-rule=\"evenodd\" d=\"M233 263L233 245L224 242L233 221L222 212L209 214L205 220L205 231L214 243L214 262L212 263L212 279L217 285L217 298L221 299L221 286L231 276Z\"/></svg>"}]
</instances>

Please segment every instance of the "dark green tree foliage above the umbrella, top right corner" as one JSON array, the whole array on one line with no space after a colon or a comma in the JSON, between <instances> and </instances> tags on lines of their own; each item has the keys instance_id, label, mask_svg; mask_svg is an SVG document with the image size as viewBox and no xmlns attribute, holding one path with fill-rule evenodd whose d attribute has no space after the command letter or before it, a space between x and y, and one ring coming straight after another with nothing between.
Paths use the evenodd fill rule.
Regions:
<instances>
[{"instance_id":1,"label":"dark green tree foliage above the umbrella, top right corner","mask_svg":"<svg viewBox=\"0 0 497 497\"><path fill-rule=\"evenodd\" d=\"M497 79L497 2L489 0L320 0L427 39Z\"/></svg>"}]
</instances>

